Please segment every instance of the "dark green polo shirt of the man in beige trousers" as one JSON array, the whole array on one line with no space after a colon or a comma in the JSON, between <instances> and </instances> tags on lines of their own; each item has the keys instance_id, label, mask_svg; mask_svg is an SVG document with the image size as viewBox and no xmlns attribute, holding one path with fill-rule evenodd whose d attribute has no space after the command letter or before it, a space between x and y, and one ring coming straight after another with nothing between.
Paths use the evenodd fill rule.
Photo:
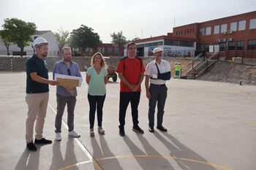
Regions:
<instances>
[{"instance_id":1,"label":"dark green polo shirt of the man in beige trousers","mask_svg":"<svg viewBox=\"0 0 256 170\"><path fill-rule=\"evenodd\" d=\"M26 61L26 93L46 93L49 91L49 85L35 82L31 79L30 74L36 72L39 77L48 79L48 66L45 60L31 56Z\"/></svg>"}]
</instances>

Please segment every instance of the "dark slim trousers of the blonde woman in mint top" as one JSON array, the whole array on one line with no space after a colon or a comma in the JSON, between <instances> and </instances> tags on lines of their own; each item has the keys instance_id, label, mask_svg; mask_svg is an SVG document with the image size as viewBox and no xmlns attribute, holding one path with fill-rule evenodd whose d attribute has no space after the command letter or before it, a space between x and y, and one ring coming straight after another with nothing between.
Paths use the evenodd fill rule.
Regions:
<instances>
[{"instance_id":1,"label":"dark slim trousers of the blonde woman in mint top","mask_svg":"<svg viewBox=\"0 0 256 170\"><path fill-rule=\"evenodd\" d=\"M106 98L105 96L91 96L88 94L88 100L90 104L89 121L90 128L94 128L95 112L97 107L97 120L98 126L102 126L102 108Z\"/></svg>"}]
</instances>

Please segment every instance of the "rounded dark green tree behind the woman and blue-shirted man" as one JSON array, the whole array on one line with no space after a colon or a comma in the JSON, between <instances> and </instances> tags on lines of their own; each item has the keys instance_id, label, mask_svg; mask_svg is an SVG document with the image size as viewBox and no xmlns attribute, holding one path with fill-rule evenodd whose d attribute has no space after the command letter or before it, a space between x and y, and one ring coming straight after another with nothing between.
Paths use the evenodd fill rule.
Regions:
<instances>
[{"instance_id":1,"label":"rounded dark green tree behind the woman and blue-shirted man","mask_svg":"<svg viewBox=\"0 0 256 170\"><path fill-rule=\"evenodd\" d=\"M80 50L80 54L85 53L88 47L95 49L99 44L99 34L94 33L94 30L87 26L81 25L71 33L70 46Z\"/></svg>"}]
</instances>

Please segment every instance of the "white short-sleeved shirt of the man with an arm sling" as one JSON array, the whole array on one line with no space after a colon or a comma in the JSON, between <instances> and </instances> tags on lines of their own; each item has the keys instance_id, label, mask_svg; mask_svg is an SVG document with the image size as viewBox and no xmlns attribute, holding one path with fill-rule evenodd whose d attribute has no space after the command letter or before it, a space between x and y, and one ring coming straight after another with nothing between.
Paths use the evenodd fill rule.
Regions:
<instances>
[{"instance_id":1,"label":"white short-sleeved shirt of the man with an arm sling","mask_svg":"<svg viewBox=\"0 0 256 170\"><path fill-rule=\"evenodd\" d=\"M151 61L150 63L147 64L146 66L146 75L148 75L149 77L157 77L157 66L159 68L159 72L160 73L165 73L165 72L170 72L170 63L168 63L165 60L161 59L161 63L157 63L156 66L156 60ZM154 85L163 85L165 84L166 80L154 80L154 79L150 79L150 83L154 84Z\"/></svg>"}]
</instances>

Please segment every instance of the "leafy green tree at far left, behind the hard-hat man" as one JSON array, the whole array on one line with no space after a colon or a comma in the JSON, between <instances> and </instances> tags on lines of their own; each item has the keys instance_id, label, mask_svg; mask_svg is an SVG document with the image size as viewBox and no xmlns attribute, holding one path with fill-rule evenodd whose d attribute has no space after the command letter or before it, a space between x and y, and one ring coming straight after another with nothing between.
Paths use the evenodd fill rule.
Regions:
<instances>
[{"instance_id":1,"label":"leafy green tree at far left, behind the hard-hat man","mask_svg":"<svg viewBox=\"0 0 256 170\"><path fill-rule=\"evenodd\" d=\"M37 26L34 23L26 23L18 18L7 18L2 26L10 33L10 42L20 47L21 56L24 47L32 41L31 36L36 32Z\"/></svg>"}]
</instances>

